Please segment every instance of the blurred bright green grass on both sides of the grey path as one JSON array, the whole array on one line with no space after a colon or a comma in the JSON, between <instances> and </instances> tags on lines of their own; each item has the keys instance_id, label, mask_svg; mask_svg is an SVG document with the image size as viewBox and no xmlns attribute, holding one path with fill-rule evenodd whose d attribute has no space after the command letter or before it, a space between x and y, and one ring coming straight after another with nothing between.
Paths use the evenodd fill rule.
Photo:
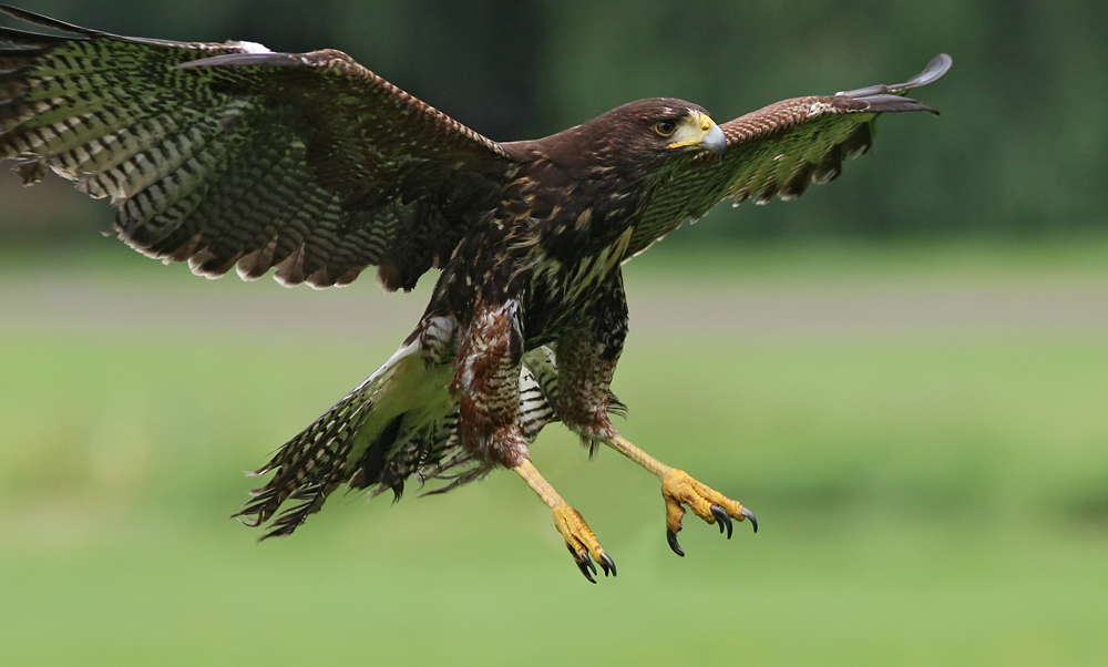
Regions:
<instances>
[{"instance_id":1,"label":"blurred bright green grass on both sides of the grey path","mask_svg":"<svg viewBox=\"0 0 1108 667\"><path fill-rule=\"evenodd\" d=\"M629 280L1104 290L1106 258L1102 242L663 253ZM42 261L8 259L14 304ZM269 298L130 259L54 279ZM363 293L337 298L373 307ZM656 481L554 427L536 464L619 566L591 586L511 474L396 505L335 496L264 544L226 519L252 483L238 471L376 368L397 326L90 330L54 310L0 327L6 667L1108 664L1108 330L633 330L624 433L761 530L726 542L690 516L678 558Z\"/></svg>"}]
</instances>

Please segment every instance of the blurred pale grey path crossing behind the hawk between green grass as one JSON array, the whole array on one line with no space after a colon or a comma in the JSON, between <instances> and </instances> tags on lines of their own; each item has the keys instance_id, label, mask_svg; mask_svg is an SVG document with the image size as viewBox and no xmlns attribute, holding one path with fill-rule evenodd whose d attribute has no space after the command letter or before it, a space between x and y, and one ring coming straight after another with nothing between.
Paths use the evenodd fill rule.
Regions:
<instances>
[{"instance_id":1,"label":"blurred pale grey path crossing behind the hawk between green grass","mask_svg":"<svg viewBox=\"0 0 1108 667\"><path fill-rule=\"evenodd\" d=\"M164 269L162 269L164 270ZM199 281L199 283L197 283ZM184 275L136 285L82 274L0 278L0 331L402 338L427 287L382 294L372 279L343 289L285 289L270 280L204 284ZM430 284L430 281L428 281ZM725 336L1102 332L1108 280L998 285L628 286L632 335Z\"/></svg>"}]
</instances>

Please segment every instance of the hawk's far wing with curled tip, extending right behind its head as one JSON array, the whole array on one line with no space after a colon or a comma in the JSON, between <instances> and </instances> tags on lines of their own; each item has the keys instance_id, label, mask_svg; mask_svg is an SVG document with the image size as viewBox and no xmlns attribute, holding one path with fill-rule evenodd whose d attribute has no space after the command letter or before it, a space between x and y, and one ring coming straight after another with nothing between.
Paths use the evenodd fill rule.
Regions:
<instances>
[{"instance_id":1,"label":"hawk's far wing with curled tip, extending right behind its head","mask_svg":"<svg viewBox=\"0 0 1108 667\"><path fill-rule=\"evenodd\" d=\"M951 57L932 60L905 83L871 85L827 96L784 100L720 125L727 154L700 153L679 163L644 212L632 238L642 252L687 218L696 219L720 201L763 204L791 199L811 183L839 176L843 162L869 150L878 114L933 109L904 98L946 73Z\"/></svg>"}]
</instances>

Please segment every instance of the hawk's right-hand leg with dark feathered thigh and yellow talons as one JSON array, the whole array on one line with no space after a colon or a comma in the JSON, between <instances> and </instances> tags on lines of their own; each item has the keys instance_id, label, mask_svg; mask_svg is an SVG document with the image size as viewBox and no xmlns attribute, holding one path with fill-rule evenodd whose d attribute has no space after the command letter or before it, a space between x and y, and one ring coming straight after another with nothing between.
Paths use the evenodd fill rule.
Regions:
<instances>
[{"instance_id":1,"label":"hawk's right-hand leg with dark feathered thigh and yellow talons","mask_svg":"<svg viewBox=\"0 0 1108 667\"><path fill-rule=\"evenodd\" d=\"M693 479L683 470L670 468L628 442L608 419L608 387L627 332L627 301L618 274L594 308L583 314L576 326L568 327L557 342L558 413L571 429L592 443L603 442L661 480L666 502L666 538L670 548L684 556L677 543L685 507L719 532L731 536L731 519L749 519L755 531L758 522L750 510Z\"/></svg>"}]
</instances>

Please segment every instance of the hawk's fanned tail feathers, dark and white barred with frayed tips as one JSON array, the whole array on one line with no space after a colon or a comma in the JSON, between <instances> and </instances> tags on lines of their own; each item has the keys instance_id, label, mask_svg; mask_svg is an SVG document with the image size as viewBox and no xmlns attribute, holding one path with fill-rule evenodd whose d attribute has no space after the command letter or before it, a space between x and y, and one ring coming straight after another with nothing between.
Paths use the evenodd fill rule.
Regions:
<instances>
[{"instance_id":1,"label":"hawk's fanned tail feathers, dark and white barred with frayed tips","mask_svg":"<svg viewBox=\"0 0 1108 667\"><path fill-rule=\"evenodd\" d=\"M428 363L419 342L402 347L365 382L285 443L250 474L276 472L237 514L252 526L270 522L263 540L288 535L340 485L376 497L386 490L399 500L406 481L445 484L423 491L444 493L492 470L462 447L458 402L450 394L449 363ZM554 351L531 350L520 371L520 415L527 443L558 421ZM609 410L625 409L614 396ZM295 501L281 510L286 502ZM279 511L279 514L278 514Z\"/></svg>"}]
</instances>

